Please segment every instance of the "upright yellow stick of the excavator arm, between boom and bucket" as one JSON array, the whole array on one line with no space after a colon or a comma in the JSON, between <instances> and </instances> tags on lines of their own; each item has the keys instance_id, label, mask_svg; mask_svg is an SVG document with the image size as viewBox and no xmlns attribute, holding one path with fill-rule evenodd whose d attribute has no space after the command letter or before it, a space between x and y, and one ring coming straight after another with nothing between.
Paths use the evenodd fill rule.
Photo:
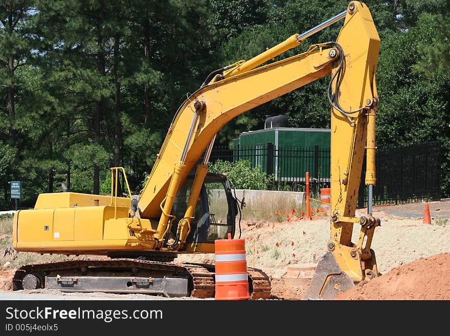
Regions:
<instances>
[{"instance_id":1,"label":"upright yellow stick of the excavator arm, between boom and bucket","mask_svg":"<svg viewBox=\"0 0 450 336\"><path fill-rule=\"evenodd\" d=\"M375 72L380 39L366 5L352 2L338 36L345 54L339 102L345 110L370 106L376 95ZM333 73L337 69L333 69ZM367 135L367 110L349 115L331 111L331 212L354 217ZM331 239L351 246L353 223L331 222Z\"/></svg>"}]
</instances>

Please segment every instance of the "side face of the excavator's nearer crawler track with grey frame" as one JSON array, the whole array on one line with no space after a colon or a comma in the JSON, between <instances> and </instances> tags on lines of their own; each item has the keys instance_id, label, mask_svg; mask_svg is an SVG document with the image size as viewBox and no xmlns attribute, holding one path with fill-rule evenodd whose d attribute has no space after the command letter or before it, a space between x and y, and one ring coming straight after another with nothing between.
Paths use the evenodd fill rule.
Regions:
<instances>
[{"instance_id":1,"label":"side face of the excavator's nearer crawler track with grey frame","mask_svg":"<svg viewBox=\"0 0 450 336\"><path fill-rule=\"evenodd\" d=\"M115 258L75 259L18 268L13 289L51 288L64 292L107 292L189 296L191 274L182 264Z\"/></svg>"}]
</instances>

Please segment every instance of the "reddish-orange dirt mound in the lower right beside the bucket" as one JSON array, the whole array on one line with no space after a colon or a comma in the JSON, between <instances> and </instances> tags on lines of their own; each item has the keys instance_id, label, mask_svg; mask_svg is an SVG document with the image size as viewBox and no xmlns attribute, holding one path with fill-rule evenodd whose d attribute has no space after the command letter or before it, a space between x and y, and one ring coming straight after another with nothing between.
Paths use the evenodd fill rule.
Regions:
<instances>
[{"instance_id":1,"label":"reddish-orange dirt mound in the lower right beside the bucket","mask_svg":"<svg viewBox=\"0 0 450 336\"><path fill-rule=\"evenodd\" d=\"M338 300L450 300L450 253L420 258L338 295Z\"/></svg>"}]
</instances>

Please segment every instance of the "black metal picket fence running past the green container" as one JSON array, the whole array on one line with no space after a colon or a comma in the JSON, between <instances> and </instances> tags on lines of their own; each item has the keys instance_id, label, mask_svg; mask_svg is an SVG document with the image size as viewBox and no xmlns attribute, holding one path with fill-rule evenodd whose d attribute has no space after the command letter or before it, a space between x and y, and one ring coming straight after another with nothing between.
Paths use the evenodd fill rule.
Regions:
<instances>
[{"instance_id":1,"label":"black metal picket fence running past the green container","mask_svg":"<svg viewBox=\"0 0 450 336\"><path fill-rule=\"evenodd\" d=\"M279 147L273 143L241 148L214 147L210 162L248 160L273 175L274 190L304 190L306 172L311 189L327 188L330 183L330 149L315 146ZM441 144L431 142L408 147L378 149L376 152L374 204L399 204L440 199ZM365 163L361 174L358 207L367 206L364 185Z\"/></svg>"}]
</instances>

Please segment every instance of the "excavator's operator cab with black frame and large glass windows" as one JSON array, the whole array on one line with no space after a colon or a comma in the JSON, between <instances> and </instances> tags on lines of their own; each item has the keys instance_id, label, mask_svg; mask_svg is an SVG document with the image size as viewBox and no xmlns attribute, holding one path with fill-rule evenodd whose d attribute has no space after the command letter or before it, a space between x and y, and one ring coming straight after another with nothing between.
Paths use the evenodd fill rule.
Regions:
<instances>
[{"instance_id":1,"label":"excavator's operator cab with black frame and large glass windows","mask_svg":"<svg viewBox=\"0 0 450 336\"><path fill-rule=\"evenodd\" d=\"M172 214L177 220L171 227L173 236L176 235L178 221L186 213L193 181L194 174L190 174L175 197ZM226 207L223 206L225 204ZM200 190L186 242L214 243L216 239L227 239L229 233L234 237L237 213L237 200L227 177L208 173Z\"/></svg>"}]
</instances>

